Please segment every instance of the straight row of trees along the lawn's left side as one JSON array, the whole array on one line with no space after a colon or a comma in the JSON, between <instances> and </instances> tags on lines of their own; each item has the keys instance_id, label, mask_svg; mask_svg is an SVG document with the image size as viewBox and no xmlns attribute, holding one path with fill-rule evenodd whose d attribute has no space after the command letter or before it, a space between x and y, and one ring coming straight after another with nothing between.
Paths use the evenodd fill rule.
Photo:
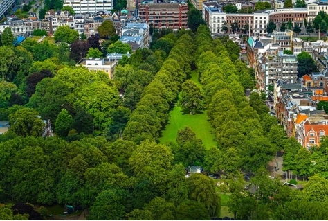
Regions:
<instances>
[{"instance_id":1,"label":"straight row of trees along the lawn's left side","mask_svg":"<svg viewBox=\"0 0 328 221\"><path fill-rule=\"evenodd\" d=\"M176 98L181 83L190 73L194 51L192 42L188 34L176 40L154 80L145 87L123 132L124 139L140 143L145 139L154 141L158 138L168 117L169 103Z\"/></svg>"}]
</instances>

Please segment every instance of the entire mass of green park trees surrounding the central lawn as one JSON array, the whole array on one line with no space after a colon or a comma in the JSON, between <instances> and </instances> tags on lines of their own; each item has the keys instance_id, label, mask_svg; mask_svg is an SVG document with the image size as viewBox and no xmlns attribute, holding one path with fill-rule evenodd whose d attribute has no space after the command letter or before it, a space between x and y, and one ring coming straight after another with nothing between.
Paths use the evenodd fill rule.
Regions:
<instances>
[{"instance_id":1,"label":"entire mass of green park trees surrounding the central lawn","mask_svg":"<svg viewBox=\"0 0 328 221\"><path fill-rule=\"evenodd\" d=\"M121 60L113 79L71 59L89 48L106 53L116 36L104 48L98 37L70 47L33 39L0 47L0 121L10 123L0 135L0 201L83 206L92 220L209 220L221 204L239 220L327 219L328 139L307 151L286 138L264 94L246 98L254 71L228 37L213 40L203 25L153 34L151 49ZM213 145L184 125L161 141L177 100L191 105L188 113L201 100ZM51 120L54 137L41 137L42 119ZM266 166L280 150L283 170L308 178L302 191L269 177ZM191 166L203 174L186 175ZM0 207L1 219L47 218L28 204Z\"/></svg>"}]
</instances>

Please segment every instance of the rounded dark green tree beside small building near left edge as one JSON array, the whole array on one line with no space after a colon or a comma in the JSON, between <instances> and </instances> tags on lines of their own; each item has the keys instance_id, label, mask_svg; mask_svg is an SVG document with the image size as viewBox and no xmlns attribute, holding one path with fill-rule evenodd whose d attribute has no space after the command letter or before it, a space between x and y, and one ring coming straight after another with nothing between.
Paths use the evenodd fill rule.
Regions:
<instances>
[{"instance_id":1,"label":"rounded dark green tree beside small building near left edge","mask_svg":"<svg viewBox=\"0 0 328 221\"><path fill-rule=\"evenodd\" d=\"M42 136L44 123L35 109L19 109L9 115L10 131L17 136Z\"/></svg>"}]
</instances>

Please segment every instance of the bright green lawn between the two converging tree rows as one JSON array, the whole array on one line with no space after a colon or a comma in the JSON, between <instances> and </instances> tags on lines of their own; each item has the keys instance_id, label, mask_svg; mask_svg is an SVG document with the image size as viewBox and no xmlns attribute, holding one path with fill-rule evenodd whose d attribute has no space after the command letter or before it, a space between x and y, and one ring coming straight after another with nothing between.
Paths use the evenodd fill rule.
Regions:
<instances>
[{"instance_id":1,"label":"bright green lawn between the two converging tree rows","mask_svg":"<svg viewBox=\"0 0 328 221\"><path fill-rule=\"evenodd\" d=\"M198 82L196 71L192 71L191 80L201 87ZM188 126L196 134L197 138L203 141L203 144L207 149L217 146L217 143L214 141L215 136L211 134L212 127L210 126L210 123L208 123L206 111L202 114L183 114L181 112L181 107L175 106L169 114L169 123L167 123L165 130L162 131L162 136L158 139L161 143L165 143L166 141L175 142L178 130Z\"/></svg>"}]
</instances>

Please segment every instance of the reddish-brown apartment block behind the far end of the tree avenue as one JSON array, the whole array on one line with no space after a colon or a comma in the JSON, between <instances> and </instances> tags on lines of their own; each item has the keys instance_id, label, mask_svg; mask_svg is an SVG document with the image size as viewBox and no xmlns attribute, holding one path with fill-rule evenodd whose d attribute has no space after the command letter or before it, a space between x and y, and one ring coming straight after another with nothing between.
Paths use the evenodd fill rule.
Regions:
<instances>
[{"instance_id":1,"label":"reddish-brown apartment block behind the far end of the tree avenue","mask_svg":"<svg viewBox=\"0 0 328 221\"><path fill-rule=\"evenodd\" d=\"M167 3L154 3L143 1L138 5L139 18L144 19L154 28L188 28L188 4L184 1L170 1Z\"/></svg>"}]
</instances>

